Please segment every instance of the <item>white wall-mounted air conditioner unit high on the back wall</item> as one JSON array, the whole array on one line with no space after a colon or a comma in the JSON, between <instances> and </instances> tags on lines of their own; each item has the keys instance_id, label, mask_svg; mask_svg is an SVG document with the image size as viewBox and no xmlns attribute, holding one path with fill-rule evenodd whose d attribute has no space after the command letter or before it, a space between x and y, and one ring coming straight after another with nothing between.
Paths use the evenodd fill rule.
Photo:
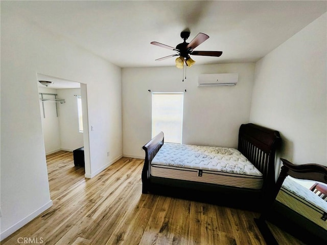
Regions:
<instances>
[{"instance_id":1,"label":"white wall-mounted air conditioner unit high on the back wall","mask_svg":"<svg viewBox=\"0 0 327 245\"><path fill-rule=\"evenodd\" d=\"M237 73L200 74L198 86L233 86L238 79Z\"/></svg>"}]
</instances>

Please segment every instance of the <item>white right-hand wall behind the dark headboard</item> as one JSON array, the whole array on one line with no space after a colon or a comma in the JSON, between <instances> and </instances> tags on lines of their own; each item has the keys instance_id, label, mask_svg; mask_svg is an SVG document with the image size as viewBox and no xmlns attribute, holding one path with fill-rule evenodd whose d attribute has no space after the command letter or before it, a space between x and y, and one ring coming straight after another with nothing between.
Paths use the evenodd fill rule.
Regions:
<instances>
[{"instance_id":1,"label":"white right-hand wall behind the dark headboard","mask_svg":"<svg viewBox=\"0 0 327 245\"><path fill-rule=\"evenodd\" d=\"M250 121L279 130L281 157L327 166L326 14L256 63Z\"/></svg>"}]
</instances>

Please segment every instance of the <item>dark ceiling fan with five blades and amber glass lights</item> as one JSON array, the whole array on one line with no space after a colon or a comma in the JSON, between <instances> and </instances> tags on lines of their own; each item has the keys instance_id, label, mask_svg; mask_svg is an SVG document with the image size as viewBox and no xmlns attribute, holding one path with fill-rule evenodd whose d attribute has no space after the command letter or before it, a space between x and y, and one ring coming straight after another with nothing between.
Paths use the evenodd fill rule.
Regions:
<instances>
[{"instance_id":1,"label":"dark ceiling fan with five blades and amber glass lights","mask_svg":"<svg viewBox=\"0 0 327 245\"><path fill-rule=\"evenodd\" d=\"M189 38L189 36L190 36L190 31L182 31L180 33L180 37L182 39L184 39L184 41L177 44L176 48L170 47L166 44L162 44L162 43L156 42L156 41L151 42L151 44L153 44L153 45L156 45L156 46L159 46L162 48L166 48L166 49L170 49L170 50L177 52L177 54L165 56L165 57L162 57L162 58L159 58L156 60L160 61L160 60L168 59L170 57L179 56L175 60L176 67L183 69L184 62L186 64L186 66L189 66L189 67L191 67L195 63L195 61L193 59L191 59L190 55L215 56L215 57L219 57L222 55L223 52L221 52L221 51L194 51L194 49L196 47L198 47L206 39L208 39L209 36L204 33L199 33L190 43L186 42L186 40Z\"/></svg>"}]
</instances>

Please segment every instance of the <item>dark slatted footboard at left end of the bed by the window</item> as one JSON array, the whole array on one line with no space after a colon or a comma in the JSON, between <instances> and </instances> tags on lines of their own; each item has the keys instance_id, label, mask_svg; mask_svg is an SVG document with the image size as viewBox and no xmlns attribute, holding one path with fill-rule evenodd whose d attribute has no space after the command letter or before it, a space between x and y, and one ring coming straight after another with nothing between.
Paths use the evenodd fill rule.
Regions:
<instances>
[{"instance_id":1,"label":"dark slatted footboard at left end of the bed by the window","mask_svg":"<svg viewBox=\"0 0 327 245\"><path fill-rule=\"evenodd\" d=\"M142 170L142 193L148 193L149 191L150 164L163 144L164 132L159 132L158 135L142 147L145 150L145 160Z\"/></svg>"}]
</instances>

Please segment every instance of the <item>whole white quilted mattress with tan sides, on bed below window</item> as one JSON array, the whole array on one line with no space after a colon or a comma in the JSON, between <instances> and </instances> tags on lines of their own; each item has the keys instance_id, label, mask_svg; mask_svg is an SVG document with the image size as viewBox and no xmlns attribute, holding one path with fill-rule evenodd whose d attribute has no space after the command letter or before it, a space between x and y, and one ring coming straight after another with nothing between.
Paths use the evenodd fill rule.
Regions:
<instances>
[{"instance_id":1,"label":"whole white quilted mattress with tan sides, on bed below window","mask_svg":"<svg viewBox=\"0 0 327 245\"><path fill-rule=\"evenodd\" d=\"M165 143L151 175L240 188L261 189L262 173L234 148Z\"/></svg>"}]
</instances>

